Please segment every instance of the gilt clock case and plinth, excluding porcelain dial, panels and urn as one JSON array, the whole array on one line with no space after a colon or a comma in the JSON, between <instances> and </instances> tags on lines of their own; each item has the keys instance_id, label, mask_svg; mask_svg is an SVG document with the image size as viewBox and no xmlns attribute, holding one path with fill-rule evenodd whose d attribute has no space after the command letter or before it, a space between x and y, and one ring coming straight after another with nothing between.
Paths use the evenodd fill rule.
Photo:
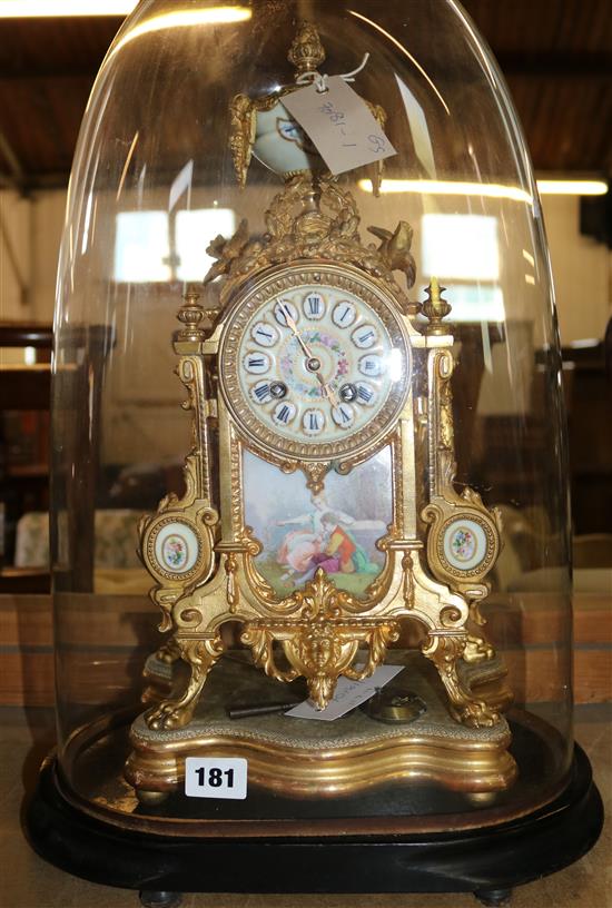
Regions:
<instances>
[{"instance_id":1,"label":"gilt clock case and plinth, excluding porcelain dial, panels and urn","mask_svg":"<svg viewBox=\"0 0 612 908\"><path fill-rule=\"evenodd\" d=\"M218 310L210 315L191 293L178 314L184 327L174 345L194 416L187 494L181 501L164 500L156 516L144 519L139 533L144 562L156 580L152 598L164 614L160 629L171 631L157 661L167 665L180 658L190 677L179 695L161 700L132 727L127 779L140 798L155 798L182 782L187 756L233 752L249 759L251 778L255 772L260 784L285 794L354 792L406 773L465 790L503 788L516 773L500 714L511 694L492 683L505 670L482 635L478 611L488 591L484 579L500 551L500 517L473 490L460 495L454 487L453 336L443 322L451 307L434 283L423 309L425 324L415 326L422 307L408 303L393 275L394 267L408 261L412 278L412 229L398 225L395 236L403 234L403 246L395 244L393 251L388 239L378 248L363 245L356 204L333 178L312 171L289 178L266 223L264 243L249 241L241 224L237 236L218 245L220 267L211 272L224 280ZM409 355L367 430L305 444L299 437L276 437L269 427L257 431L257 421L240 403L238 345L246 325L270 298L322 286L358 294L385 322L394 347ZM409 368L408 359L414 361ZM218 445L218 511L211 422ZM244 451L284 473L302 471L316 495L329 471L347 475L383 447L391 450L393 512L387 534L377 542L385 555L378 576L363 596L355 596L319 568L312 581L279 599L257 570L261 543L245 520ZM418 477L425 465L430 483L423 495ZM484 544L475 563L461 570L445 552L448 536L466 523L482 529ZM157 541L165 531L188 531L197 540L193 564L172 571L160 560ZM296 754L322 742L283 733L283 720L261 748L258 728L228 731L227 722L219 726L207 712L196 718L208 672L226 649L221 629L228 622L239 622L241 643L268 677L285 682L304 677L310 700L324 709L340 675L363 680L383 663L403 621L421 625L421 651L436 667L455 720L434 723L425 747L421 730L398 739L373 722L369 734L359 729L348 742L343 736L342 744L329 739L325 759L300 764ZM150 660L147 672L155 671ZM492 691L478 694L473 690L478 683ZM457 722L474 731L467 733ZM185 731L172 749L168 732L178 728Z\"/></svg>"}]
</instances>

